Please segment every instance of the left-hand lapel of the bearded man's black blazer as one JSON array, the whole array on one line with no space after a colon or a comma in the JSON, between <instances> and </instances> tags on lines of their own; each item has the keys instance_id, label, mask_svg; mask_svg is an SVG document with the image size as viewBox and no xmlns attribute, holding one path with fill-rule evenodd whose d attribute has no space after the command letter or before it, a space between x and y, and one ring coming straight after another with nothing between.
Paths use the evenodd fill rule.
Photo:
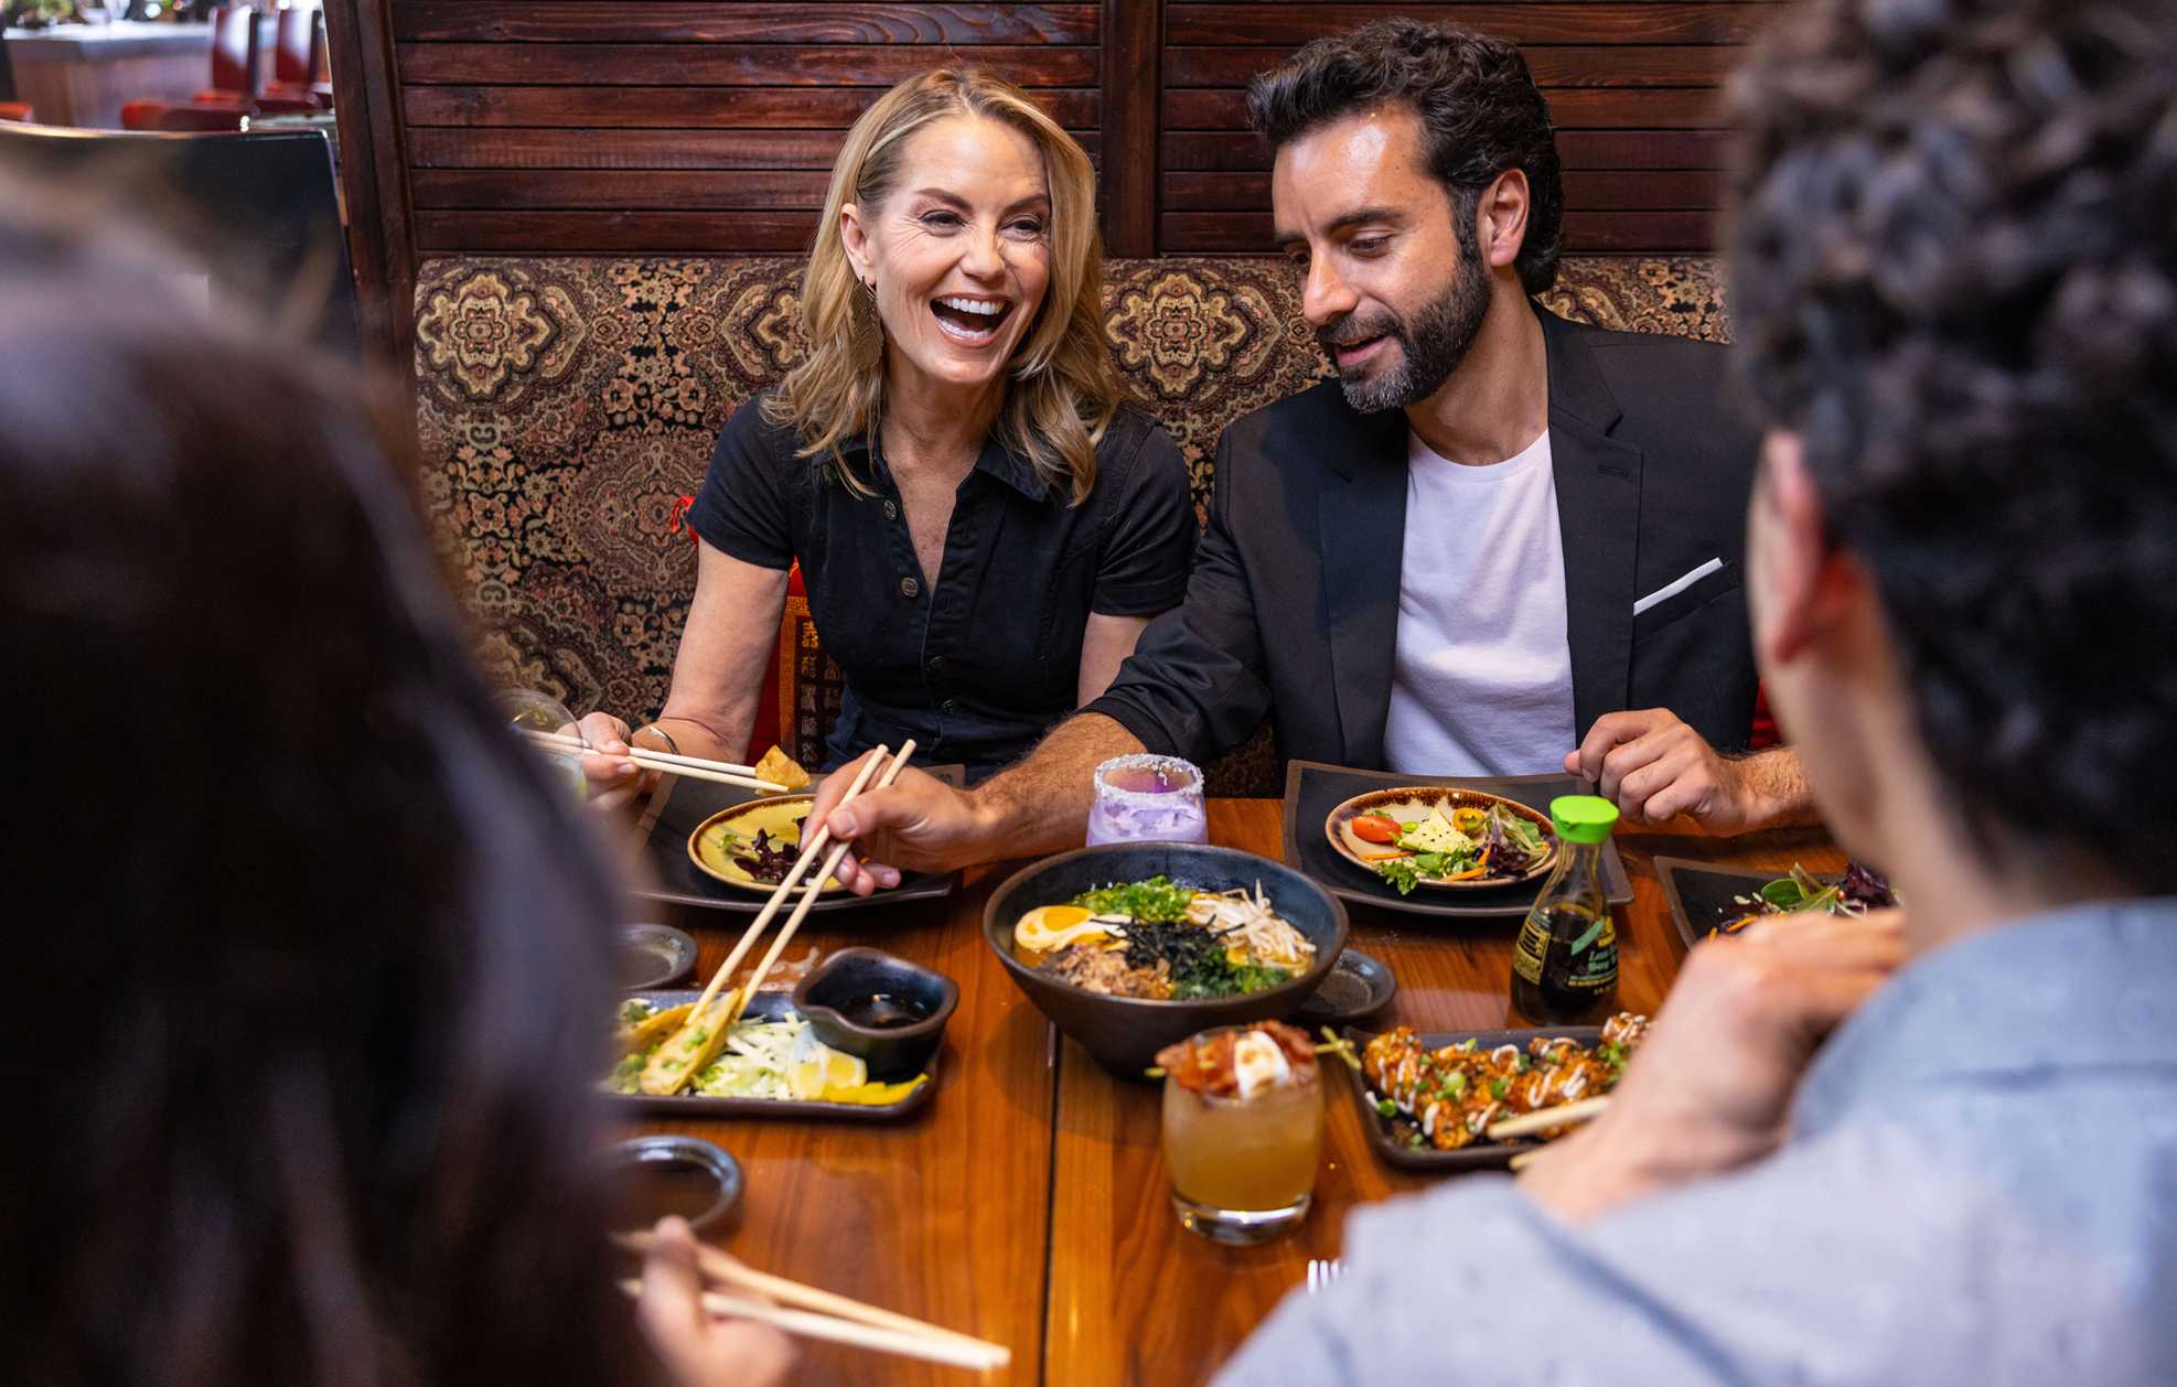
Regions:
<instances>
[{"instance_id":1,"label":"left-hand lapel of the bearded man's black blazer","mask_svg":"<svg viewBox=\"0 0 2177 1387\"><path fill-rule=\"evenodd\" d=\"M1315 523L1339 738L1345 764L1380 766L1406 549L1406 414L1345 412L1339 435L1317 446L1330 459L1319 475Z\"/></svg>"}]
</instances>

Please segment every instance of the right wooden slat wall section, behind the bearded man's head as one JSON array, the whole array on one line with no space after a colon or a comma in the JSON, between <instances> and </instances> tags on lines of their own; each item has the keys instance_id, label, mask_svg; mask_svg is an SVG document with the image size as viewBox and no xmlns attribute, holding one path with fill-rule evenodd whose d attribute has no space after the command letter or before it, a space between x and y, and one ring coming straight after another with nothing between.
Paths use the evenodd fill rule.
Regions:
<instances>
[{"instance_id":1,"label":"right wooden slat wall section, behind the bearded man's head","mask_svg":"<svg viewBox=\"0 0 2177 1387\"><path fill-rule=\"evenodd\" d=\"M1169 0L1156 244L1267 248L1267 152L1247 133L1247 78L1317 35L1411 15L1520 44L1559 128L1567 250L1707 250L1722 165L1718 87L1770 9L1739 0Z\"/></svg>"}]
</instances>

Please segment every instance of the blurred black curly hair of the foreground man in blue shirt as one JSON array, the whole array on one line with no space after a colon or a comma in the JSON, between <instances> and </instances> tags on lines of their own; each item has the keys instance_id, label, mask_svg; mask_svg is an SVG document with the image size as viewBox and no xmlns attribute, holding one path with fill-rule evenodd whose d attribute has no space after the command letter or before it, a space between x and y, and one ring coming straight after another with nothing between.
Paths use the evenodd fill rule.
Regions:
<instances>
[{"instance_id":1,"label":"blurred black curly hair of the foreground man in blue shirt","mask_svg":"<svg viewBox=\"0 0 2177 1387\"><path fill-rule=\"evenodd\" d=\"M2177 888L2177 0L1816 0L1733 105L1744 370L1938 773Z\"/></svg>"}]
</instances>

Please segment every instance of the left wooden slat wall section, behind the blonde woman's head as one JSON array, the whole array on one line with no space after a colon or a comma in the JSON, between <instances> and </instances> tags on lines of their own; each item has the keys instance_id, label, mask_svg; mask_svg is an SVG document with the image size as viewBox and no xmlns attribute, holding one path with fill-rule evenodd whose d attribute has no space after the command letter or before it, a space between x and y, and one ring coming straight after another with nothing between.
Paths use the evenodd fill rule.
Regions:
<instances>
[{"instance_id":1,"label":"left wooden slat wall section, behind the blonde woman's head","mask_svg":"<svg viewBox=\"0 0 2177 1387\"><path fill-rule=\"evenodd\" d=\"M845 128L943 63L1099 148L1099 4L361 2L392 11L418 255L799 250Z\"/></svg>"}]
</instances>

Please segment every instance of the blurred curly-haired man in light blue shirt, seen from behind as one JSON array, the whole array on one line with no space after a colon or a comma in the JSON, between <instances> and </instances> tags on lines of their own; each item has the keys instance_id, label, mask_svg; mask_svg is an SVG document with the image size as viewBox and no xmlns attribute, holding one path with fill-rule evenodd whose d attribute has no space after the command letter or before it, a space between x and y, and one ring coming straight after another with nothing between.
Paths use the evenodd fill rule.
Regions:
<instances>
[{"instance_id":1,"label":"blurred curly-haired man in light blue shirt, seen from behind","mask_svg":"<svg viewBox=\"0 0 2177 1387\"><path fill-rule=\"evenodd\" d=\"M1223 1387L2173 1378L2177 4L1824 0L1739 91L1755 647L1909 917L1694 949Z\"/></svg>"}]
</instances>

